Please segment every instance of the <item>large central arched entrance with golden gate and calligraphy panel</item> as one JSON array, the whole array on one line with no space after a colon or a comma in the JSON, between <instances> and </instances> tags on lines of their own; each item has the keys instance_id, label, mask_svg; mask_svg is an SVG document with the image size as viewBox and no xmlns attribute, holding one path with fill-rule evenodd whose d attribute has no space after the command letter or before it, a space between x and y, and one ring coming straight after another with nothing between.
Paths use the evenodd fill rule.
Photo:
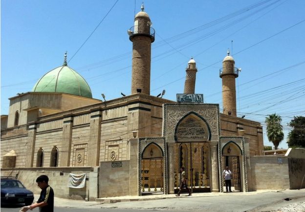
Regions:
<instances>
[{"instance_id":1,"label":"large central arched entrance with golden gate and calligraphy panel","mask_svg":"<svg viewBox=\"0 0 305 212\"><path fill-rule=\"evenodd\" d=\"M174 189L180 184L180 168L184 167L192 192L210 192L211 130L200 115L190 112L175 127Z\"/></svg>"}]
</instances>

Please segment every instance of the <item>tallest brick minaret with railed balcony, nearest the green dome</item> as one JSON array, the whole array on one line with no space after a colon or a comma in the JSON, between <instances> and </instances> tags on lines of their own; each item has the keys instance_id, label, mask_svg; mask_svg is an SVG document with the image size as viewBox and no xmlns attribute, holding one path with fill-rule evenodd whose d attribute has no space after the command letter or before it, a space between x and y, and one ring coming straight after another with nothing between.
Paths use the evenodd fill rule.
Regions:
<instances>
[{"instance_id":1,"label":"tallest brick minaret with railed balcony, nearest the green dome","mask_svg":"<svg viewBox=\"0 0 305 212\"><path fill-rule=\"evenodd\" d=\"M131 94L145 93L151 89L151 48L154 42L152 22L142 4L141 11L134 17L134 26L128 30L132 42Z\"/></svg>"}]
</instances>

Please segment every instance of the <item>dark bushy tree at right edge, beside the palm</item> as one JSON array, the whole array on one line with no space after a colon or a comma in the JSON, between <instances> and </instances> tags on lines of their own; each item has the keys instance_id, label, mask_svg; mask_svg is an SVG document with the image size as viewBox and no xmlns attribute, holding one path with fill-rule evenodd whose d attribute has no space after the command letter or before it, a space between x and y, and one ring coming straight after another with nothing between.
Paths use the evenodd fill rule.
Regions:
<instances>
[{"instance_id":1,"label":"dark bushy tree at right edge, beside the palm","mask_svg":"<svg viewBox=\"0 0 305 212\"><path fill-rule=\"evenodd\" d=\"M288 134L288 147L305 148L305 117L294 117L289 126L293 129Z\"/></svg>"}]
</instances>

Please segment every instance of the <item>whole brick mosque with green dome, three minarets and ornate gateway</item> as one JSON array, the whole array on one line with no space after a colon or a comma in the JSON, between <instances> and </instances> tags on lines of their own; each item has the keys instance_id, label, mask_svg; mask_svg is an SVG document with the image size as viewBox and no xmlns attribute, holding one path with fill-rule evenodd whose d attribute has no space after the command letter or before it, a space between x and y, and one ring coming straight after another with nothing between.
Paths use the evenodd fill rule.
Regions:
<instances>
[{"instance_id":1,"label":"whole brick mosque with green dome, three minarets and ornate gateway","mask_svg":"<svg viewBox=\"0 0 305 212\"><path fill-rule=\"evenodd\" d=\"M53 189L58 197L89 200L176 193L180 167L186 170L192 192L223 192L226 166L233 171L234 191L293 187L289 157L281 159L279 169L289 175L279 176L281 183L268 183L261 170L261 163L278 169L278 158L266 162L262 156L261 124L237 117L239 69L229 52L219 72L220 112L218 104L204 103L203 95L195 93L193 58L177 101L151 96L155 32L143 6L128 34L131 95L93 99L86 80L68 66L65 54L63 65L47 72L32 91L9 99L9 113L1 115L1 177L17 177L38 193L33 179L44 173L51 185L57 185ZM86 186L67 187L70 173L86 173Z\"/></svg>"}]
</instances>

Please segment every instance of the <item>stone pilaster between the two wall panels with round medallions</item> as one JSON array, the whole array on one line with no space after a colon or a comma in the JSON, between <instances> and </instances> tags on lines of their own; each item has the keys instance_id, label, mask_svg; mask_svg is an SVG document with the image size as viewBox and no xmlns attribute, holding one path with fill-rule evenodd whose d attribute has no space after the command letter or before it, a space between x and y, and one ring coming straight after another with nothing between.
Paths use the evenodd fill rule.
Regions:
<instances>
[{"instance_id":1,"label":"stone pilaster between the two wall panels with round medallions","mask_svg":"<svg viewBox=\"0 0 305 212\"><path fill-rule=\"evenodd\" d=\"M87 166L99 166L100 146L101 146L101 122L102 110L100 108L91 109L90 132L88 143Z\"/></svg>"}]
</instances>

